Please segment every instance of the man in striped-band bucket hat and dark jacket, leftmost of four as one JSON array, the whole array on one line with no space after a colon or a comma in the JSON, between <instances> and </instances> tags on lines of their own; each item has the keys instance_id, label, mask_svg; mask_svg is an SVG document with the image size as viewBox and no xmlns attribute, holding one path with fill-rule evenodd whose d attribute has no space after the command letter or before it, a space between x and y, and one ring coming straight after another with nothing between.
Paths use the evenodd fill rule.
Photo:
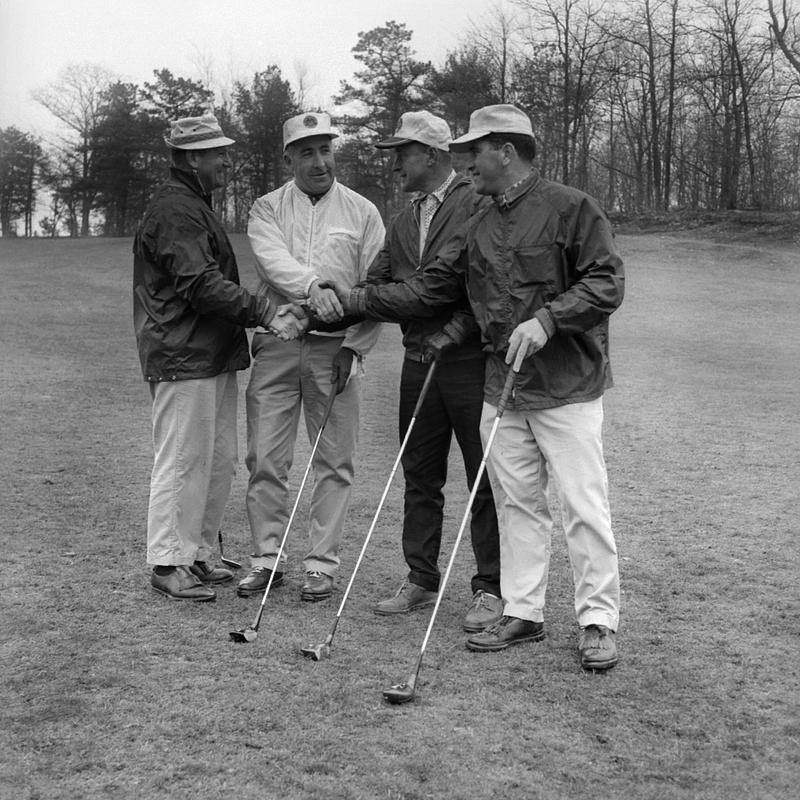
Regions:
<instances>
[{"instance_id":1,"label":"man in striped-band bucket hat and dark jacket, leftmost of four","mask_svg":"<svg viewBox=\"0 0 800 800\"><path fill-rule=\"evenodd\" d=\"M211 114L176 120L169 179L133 244L133 320L152 400L154 463L147 517L150 583L175 600L208 601L233 578L210 563L237 461L236 372L250 364L245 327L275 306L239 284L211 207L228 147Z\"/></svg>"}]
</instances>

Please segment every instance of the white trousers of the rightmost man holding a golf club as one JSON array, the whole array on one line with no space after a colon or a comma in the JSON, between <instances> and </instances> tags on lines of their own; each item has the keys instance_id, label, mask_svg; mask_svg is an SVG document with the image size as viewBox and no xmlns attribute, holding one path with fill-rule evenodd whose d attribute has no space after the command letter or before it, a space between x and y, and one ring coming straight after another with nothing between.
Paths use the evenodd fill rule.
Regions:
<instances>
[{"instance_id":1,"label":"white trousers of the rightmost man holding a golf club","mask_svg":"<svg viewBox=\"0 0 800 800\"><path fill-rule=\"evenodd\" d=\"M484 403L484 446L497 409ZM537 411L506 410L487 459L500 522L500 588L508 616L541 622L555 479L580 626L619 624L619 566L603 458L602 398Z\"/></svg>"}]
</instances>

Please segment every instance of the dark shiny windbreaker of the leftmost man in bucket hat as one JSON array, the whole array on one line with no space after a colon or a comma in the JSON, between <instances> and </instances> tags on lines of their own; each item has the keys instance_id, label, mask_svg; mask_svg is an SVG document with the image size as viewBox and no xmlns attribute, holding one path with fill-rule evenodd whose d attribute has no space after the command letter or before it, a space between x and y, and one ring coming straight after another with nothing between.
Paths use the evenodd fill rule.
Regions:
<instances>
[{"instance_id":1,"label":"dark shiny windbreaker of the leftmost man in bucket hat","mask_svg":"<svg viewBox=\"0 0 800 800\"><path fill-rule=\"evenodd\" d=\"M231 243L196 177L177 169L133 242L133 324L146 381L212 378L250 365L245 327L269 309L239 285Z\"/></svg>"}]
</instances>

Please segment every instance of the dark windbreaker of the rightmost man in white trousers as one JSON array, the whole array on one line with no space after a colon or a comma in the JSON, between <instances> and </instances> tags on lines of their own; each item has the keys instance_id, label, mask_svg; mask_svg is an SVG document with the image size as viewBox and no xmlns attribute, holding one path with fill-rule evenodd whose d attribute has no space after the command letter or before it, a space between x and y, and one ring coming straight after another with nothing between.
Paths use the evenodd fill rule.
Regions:
<instances>
[{"instance_id":1,"label":"dark windbreaker of the rightmost man in white trousers","mask_svg":"<svg viewBox=\"0 0 800 800\"><path fill-rule=\"evenodd\" d=\"M509 407L584 402L612 385L608 318L622 302L624 273L594 199L532 171L472 217L460 250L453 242L406 281L414 312L431 316L456 301L465 276L488 353L487 402L499 401L511 333L533 317L550 339L524 360ZM368 287L368 302L379 289Z\"/></svg>"}]
</instances>

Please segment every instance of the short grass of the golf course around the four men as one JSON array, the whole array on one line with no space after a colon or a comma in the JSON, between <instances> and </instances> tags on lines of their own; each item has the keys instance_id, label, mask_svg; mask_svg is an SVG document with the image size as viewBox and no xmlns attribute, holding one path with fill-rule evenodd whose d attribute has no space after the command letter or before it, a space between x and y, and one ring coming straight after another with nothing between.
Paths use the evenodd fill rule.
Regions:
<instances>
[{"instance_id":1,"label":"short grass of the golf course around the four men","mask_svg":"<svg viewBox=\"0 0 800 800\"><path fill-rule=\"evenodd\" d=\"M252 285L246 242L236 246ZM548 638L468 652L465 542L417 698L389 707L381 689L408 676L427 622L369 611L404 572L401 476L332 657L308 662L297 648L330 630L397 452L396 330L368 360L334 597L299 601L298 524L288 585L268 600L257 641L235 645L228 631L252 621L257 600L228 586L215 604L185 606L148 585L149 402L130 241L0 241L0 797L795 797L797 250L680 233L620 246L628 293L606 396L619 666L578 666L559 532ZM295 481L307 454L303 443ZM443 564L462 472L454 449ZM242 561L244 486L242 466L225 523L226 554Z\"/></svg>"}]
</instances>

